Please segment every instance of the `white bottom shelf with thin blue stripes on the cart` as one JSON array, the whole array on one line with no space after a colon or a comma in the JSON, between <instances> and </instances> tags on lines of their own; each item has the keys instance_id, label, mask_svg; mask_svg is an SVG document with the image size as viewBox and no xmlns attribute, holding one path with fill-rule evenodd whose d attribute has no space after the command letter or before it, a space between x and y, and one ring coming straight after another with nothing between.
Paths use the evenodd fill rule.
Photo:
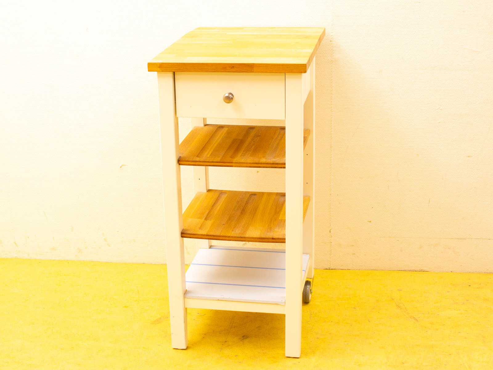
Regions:
<instances>
[{"instance_id":1,"label":"white bottom shelf with thin blue stripes on the cart","mask_svg":"<svg viewBox=\"0 0 493 370\"><path fill-rule=\"evenodd\" d=\"M301 278L309 259L303 255ZM212 246L190 264L185 298L284 304L285 288L284 250Z\"/></svg>"}]
</instances>

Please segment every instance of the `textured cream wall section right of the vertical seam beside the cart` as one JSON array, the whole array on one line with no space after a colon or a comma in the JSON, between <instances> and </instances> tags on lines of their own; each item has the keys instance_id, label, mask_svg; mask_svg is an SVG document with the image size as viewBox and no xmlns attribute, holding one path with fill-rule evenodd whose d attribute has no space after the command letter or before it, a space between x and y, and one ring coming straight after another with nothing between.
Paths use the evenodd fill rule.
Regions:
<instances>
[{"instance_id":1,"label":"textured cream wall section right of the vertical seam beside the cart","mask_svg":"<svg viewBox=\"0 0 493 370\"><path fill-rule=\"evenodd\" d=\"M493 272L491 1L334 1L331 267Z\"/></svg>"}]
</instances>

